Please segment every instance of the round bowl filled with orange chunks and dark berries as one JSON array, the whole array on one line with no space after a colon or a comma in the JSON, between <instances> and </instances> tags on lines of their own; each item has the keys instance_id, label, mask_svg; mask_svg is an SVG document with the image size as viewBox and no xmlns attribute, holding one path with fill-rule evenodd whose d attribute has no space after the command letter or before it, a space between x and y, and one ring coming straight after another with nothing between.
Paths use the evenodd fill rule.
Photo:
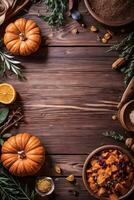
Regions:
<instances>
[{"instance_id":1,"label":"round bowl filled with orange chunks and dark berries","mask_svg":"<svg viewBox=\"0 0 134 200\"><path fill-rule=\"evenodd\" d=\"M82 177L96 199L123 200L134 191L134 158L119 146L102 146L87 157Z\"/></svg>"}]
</instances>

